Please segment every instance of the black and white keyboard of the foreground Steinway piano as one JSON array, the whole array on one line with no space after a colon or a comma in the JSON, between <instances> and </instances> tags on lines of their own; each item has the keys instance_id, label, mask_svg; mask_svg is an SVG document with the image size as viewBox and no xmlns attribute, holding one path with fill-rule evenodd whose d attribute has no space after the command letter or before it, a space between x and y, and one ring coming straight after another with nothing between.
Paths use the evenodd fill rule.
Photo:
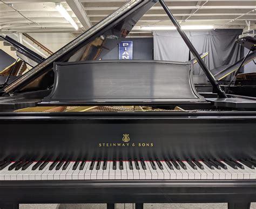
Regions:
<instances>
[{"instance_id":1,"label":"black and white keyboard of the foreground Steinway piano","mask_svg":"<svg viewBox=\"0 0 256 209\"><path fill-rule=\"evenodd\" d=\"M1 162L0 180L256 179L255 166L250 159Z\"/></svg>"}]
</instances>

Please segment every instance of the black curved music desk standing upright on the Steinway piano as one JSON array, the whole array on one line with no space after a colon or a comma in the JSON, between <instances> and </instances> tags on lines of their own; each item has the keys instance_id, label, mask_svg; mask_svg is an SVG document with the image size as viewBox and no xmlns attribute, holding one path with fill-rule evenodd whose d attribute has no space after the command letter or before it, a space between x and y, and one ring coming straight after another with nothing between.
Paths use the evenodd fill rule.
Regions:
<instances>
[{"instance_id":1,"label":"black curved music desk standing upright on the Steinway piano","mask_svg":"<svg viewBox=\"0 0 256 209\"><path fill-rule=\"evenodd\" d=\"M205 101L191 62L108 60L55 63L55 85L41 104L123 105Z\"/></svg>"}]
</instances>

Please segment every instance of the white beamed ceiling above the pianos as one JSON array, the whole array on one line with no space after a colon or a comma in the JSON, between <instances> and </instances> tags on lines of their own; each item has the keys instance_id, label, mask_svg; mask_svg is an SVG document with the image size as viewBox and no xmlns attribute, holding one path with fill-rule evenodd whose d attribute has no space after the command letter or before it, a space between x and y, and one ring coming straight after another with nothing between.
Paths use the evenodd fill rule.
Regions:
<instances>
[{"instance_id":1,"label":"white beamed ceiling above the pianos","mask_svg":"<svg viewBox=\"0 0 256 209\"><path fill-rule=\"evenodd\" d=\"M61 3L79 26L76 31L56 10ZM80 33L96 24L126 0L0 0L0 33ZM165 1L181 25L214 25L217 29L255 27L256 0L251 1ZM131 36L143 36L141 26L171 25L160 4L153 6L137 23Z\"/></svg>"}]
</instances>

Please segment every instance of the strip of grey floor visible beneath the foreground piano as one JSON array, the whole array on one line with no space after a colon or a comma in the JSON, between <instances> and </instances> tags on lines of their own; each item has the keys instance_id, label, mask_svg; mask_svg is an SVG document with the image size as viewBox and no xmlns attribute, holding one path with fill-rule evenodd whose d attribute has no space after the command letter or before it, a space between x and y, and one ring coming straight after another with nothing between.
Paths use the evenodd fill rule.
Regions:
<instances>
[{"instance_id":1,"label":"strip of grey floor visible beneath the foreground piano","mask_svg":"<svg viewBox=\"0 0 256 209\"><path fill-rule=\"evenodd\" d=\"M106 204L21 204L20 209L105 209ZM134 209L133 204L116 204L116 209ZM224 209L226 203L144 204L144 209ZM242 209L242 208L241 208ZM250 209L256 209L256 203Z\"/></svg>"}]
</instances>

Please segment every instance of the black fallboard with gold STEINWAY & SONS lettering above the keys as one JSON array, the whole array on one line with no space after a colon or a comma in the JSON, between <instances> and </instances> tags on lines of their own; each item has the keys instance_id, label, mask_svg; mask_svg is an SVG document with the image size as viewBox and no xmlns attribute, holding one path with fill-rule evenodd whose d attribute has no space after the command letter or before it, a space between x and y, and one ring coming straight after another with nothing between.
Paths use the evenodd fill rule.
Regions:
<instances>
[{"instance_id":1,"label":"black fallboard with gold STEINWAY & SONS lettering above the keys","mask_svg":"<svg viewBox=\"0 0 256 209\"><path fill-rule=\"evenodd\" d=\"M0 158L256 158L256 115L197 113L2 113Z\"/></svg>"}]
</instances>

